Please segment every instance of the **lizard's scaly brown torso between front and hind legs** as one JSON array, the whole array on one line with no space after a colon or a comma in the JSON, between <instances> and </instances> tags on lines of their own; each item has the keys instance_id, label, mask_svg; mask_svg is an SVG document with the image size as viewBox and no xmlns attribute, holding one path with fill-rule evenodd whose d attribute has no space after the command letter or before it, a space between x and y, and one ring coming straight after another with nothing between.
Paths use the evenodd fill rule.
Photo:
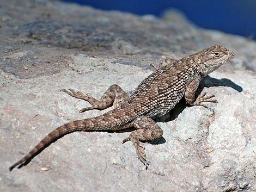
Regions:
<instances>
[{"instance_id":1,"label":"lizard's scaly brown torso between front and hind legs","mask_svg":"<svg viewBox=\"0 0 256 192\"><path fill-rule=\"evenodd\" d=\"M196 65L184 60L161 67L138 85L127 103L138 108L140 114L162 116L181 100L196 73Z\"/></svg>"}]
</instances>

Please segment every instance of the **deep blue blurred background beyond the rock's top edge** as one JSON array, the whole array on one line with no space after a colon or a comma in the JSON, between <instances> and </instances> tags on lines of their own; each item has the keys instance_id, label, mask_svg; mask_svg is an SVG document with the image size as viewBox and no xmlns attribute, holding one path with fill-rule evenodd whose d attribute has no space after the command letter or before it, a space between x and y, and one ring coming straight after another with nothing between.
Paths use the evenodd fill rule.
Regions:
<instances>
[{"instance_id":1,"label":"deep blue blurred background beyond the rock's top edge","mask_svg":"<svg viewBox=\"0 0 256 192\"><path fill-rule=\"evenodd\" d=\"M256 39L256 0L63 0L102 10L161 16L164 10L181 10L199 27Z\"/></svg>"}]
</instances>

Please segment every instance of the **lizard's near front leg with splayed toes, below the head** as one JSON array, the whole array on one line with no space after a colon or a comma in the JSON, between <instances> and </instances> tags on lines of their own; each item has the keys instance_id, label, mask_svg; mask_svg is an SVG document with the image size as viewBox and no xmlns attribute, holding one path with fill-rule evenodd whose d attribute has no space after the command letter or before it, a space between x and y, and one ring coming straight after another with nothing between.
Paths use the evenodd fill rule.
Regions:
<instances>
[{"instance_id":1,"label":"lizard's near front leg with splayed toes, below the head","mask_svg":"<svg viewBox=\"0 0 256 192\"><path fill-rule=\"evenodd\" d=\"M211 98L213 98L215 96L214 95L205 96L206 92L203 92L202 94L200 94L197 97L197 99L196 99L195 95L196 95L196 91L197 91L197 88L199 86L199 83L200 83L200 79L199 78L195 78L188 85L188 87L187 87L187 89L185 91L185 100L186 100L186 102L190 106L203 106L205 108L208 108L208 107L205 104L202 104L202 102L217 103L218 101L215 98L211 99Z\"/></svg>"}]
</instances>

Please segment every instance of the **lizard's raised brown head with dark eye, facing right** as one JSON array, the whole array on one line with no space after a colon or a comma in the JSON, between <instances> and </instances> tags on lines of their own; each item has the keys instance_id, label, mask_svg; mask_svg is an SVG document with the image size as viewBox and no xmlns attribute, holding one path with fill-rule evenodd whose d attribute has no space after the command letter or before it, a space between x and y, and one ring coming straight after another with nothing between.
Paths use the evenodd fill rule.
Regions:
<instances>
[{"instance_id":1,"label":"lizard's raised brown head with dark eye, facing right","mask_svg":"<svg viewBox=\"0 0 256 192\"><path fill-rule=\"evenodd\" d=\"M234 58L234 52L225 48L222 45L214 45L208 49L205 49L202 53L202 68L201 73L203 76L208 75L212 71L215 71L223 64L226 64L229 60Z\"/></svg>"}]
</instances>

